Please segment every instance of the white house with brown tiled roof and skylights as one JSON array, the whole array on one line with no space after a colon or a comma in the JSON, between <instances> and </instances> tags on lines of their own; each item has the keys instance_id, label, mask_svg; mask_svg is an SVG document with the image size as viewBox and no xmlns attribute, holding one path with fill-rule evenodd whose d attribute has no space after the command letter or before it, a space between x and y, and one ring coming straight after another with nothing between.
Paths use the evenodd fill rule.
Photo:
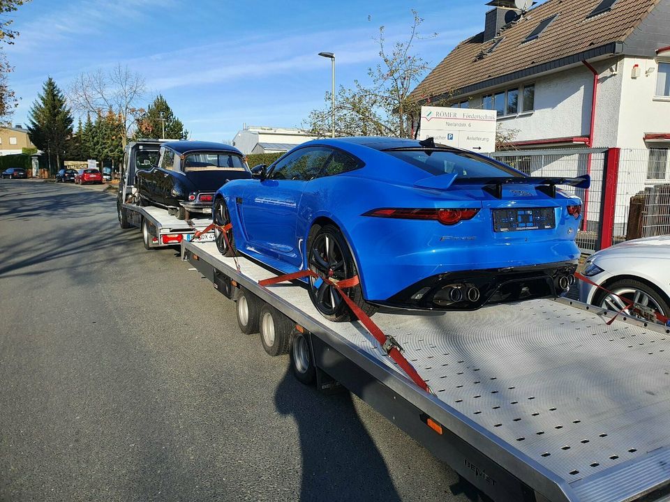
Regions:
<instances>
[{"instance_id":1,"label":"white house with brown tiled roof and skylights","mask_svg":"<svg viewBox=\"0 0 670 502\"><path fill-rule=\"evenodd\" d=\"M670 0L514 3L489 2L412 97L498 109L517 148L670 144Z\"/></svg>"}]
</instances>

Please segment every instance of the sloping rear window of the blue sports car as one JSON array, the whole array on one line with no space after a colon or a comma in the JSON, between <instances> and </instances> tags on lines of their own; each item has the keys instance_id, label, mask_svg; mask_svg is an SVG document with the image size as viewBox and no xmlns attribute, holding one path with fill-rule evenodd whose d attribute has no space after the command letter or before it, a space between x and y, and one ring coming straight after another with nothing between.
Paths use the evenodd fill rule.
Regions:
<instances>
[{"instance_id":1,"label":"sloping rear window of the blue sports car","mask_svg":"<svg viewBox=\"0 0 670 502\"><path fill-rule=\"evenodd\" d=\"M385 150L384 153L404 160L433 176L456 173L458 178L522 178L524 175L472 153L450 150Z\"/></svg>"}]
</instances>

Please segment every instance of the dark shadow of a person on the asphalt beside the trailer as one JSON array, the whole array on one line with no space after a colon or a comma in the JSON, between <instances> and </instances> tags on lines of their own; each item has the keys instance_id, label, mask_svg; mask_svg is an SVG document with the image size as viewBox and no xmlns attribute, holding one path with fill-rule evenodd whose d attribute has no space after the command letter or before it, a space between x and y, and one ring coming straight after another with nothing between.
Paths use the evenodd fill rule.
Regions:
<instances>
[{"instance_id":1,"label":"dark shadow of a person on the asphalt beside the trailer","mask_svg":"<svg viewBox=\"0 0 670 502\"><path fill-rule=\"evenodd\" d=\"M349 393L322 395L288 369L274 400L277 411L292 415L299 429L301 501L400 500Z\"/></svg>"}]
</instances>

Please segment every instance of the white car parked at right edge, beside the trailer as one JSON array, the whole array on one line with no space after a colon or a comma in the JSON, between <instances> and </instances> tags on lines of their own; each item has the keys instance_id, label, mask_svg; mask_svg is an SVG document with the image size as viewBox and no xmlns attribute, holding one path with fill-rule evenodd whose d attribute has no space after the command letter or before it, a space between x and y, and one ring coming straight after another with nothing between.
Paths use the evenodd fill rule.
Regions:
<instances>
[{"instance_id":1,"label":"white car parked at right edge, beside the trailer","mask_svg":"<svg viewBox=\"0 0 670 502\"><path fill-rule=\"evenodd\" d=\"M670 236L639 238L598 251L586 261L582 275L627 300L670 316ZM626 306L621 298L583 281L579 282L579 299L616 312Z\"/></svg>"}]
</instances>

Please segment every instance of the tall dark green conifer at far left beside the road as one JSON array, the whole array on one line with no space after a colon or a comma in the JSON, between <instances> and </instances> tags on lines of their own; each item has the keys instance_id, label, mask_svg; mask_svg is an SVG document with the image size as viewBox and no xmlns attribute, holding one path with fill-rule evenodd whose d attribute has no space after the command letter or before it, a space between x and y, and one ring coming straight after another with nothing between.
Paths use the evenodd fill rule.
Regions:
<instances>
[{"instance_id":1,"label":"tall dark green conifer at far left beside the road","mask_svg":"<svg viewBox=\"0 0 670 502\"><path fill-rule=\"evenodd\" d=\"M65 96L49 77L28 114L28 132L38 149L47 153L49 171L61 166L68 138L72 135L72 115Z\"/></svg>"}]
</instances>

